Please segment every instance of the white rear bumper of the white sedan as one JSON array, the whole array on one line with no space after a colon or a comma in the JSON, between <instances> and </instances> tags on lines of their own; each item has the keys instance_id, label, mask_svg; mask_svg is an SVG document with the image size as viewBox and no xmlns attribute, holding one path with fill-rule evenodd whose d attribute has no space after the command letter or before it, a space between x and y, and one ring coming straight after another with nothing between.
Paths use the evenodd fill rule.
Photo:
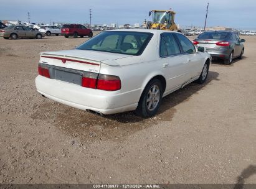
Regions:
<instances>
[{"instance_id":1,"label":"white rear bumper of the white sedan","mask_svg":"<svg viewBox=\"0 0 256 189\"><path fill-rule=\"evenodd\" d=\"M141 90L118 93L83 88L64 81L37 76L36 88L40 94L73 108L93 110L102 114L133 111L138 106Z\"/></svg>"}]
</instances>

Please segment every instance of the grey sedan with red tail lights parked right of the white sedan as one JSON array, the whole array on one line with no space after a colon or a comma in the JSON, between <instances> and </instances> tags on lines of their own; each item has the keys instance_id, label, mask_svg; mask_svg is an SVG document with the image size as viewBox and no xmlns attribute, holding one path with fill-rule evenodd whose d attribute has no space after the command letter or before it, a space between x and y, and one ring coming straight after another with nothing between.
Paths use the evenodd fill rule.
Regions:
<instances>
[{"instance_id":1,"label":"grey sedan with red tail lights parked right of the white sedan","mask_svg":"<svg viewBox=\"0 0 256 189\"><path fill-rule=\"evenodd\" d=\"M193 40L194 45L206 48L212 58L224 59L225 64L232 63L234 58L242 58L244 42L232 31L204 32Z\"/></svg>"}]
</instances>

